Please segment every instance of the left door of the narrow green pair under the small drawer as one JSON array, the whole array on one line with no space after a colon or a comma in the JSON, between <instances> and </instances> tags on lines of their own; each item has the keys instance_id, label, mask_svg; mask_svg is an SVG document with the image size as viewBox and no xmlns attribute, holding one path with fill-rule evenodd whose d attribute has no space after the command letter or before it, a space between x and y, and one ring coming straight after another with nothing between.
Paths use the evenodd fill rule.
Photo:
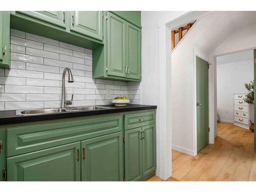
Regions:
<instances>
[{"instance_id":1,"label":"left door of the narrow green pair under the small drawer","mask_svg":"<svg viewBox=\"0 0 256 192\"><path fill-rule=\"evenodd\" d=\"M142 179L142 129L124 132L125 181Z\"/></svg>"}]
</instances>

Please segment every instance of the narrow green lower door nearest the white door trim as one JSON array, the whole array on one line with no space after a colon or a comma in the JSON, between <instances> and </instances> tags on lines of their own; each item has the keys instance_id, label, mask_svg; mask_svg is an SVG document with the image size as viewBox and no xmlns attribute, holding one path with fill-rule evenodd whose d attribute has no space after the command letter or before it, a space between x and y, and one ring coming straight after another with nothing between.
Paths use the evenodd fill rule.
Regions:
<instances>
[{"instance_id":1,"label":"narrow green lower door nearest the white door trim","mask_svg":"<svg viewBox=\"0 0 256 192\"><path fill-rule=\"evenodd\" d=\"M142 127L143 177L156 169L156 125Z\"/></svg>"}]
</instances>

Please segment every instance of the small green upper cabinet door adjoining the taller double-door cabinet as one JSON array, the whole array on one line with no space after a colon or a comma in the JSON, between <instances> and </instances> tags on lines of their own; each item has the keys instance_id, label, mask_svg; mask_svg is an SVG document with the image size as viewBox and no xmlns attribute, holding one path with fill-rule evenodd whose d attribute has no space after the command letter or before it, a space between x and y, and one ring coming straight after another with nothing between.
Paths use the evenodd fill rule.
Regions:
<instances>
[{"instance_id":1,"label":"small green upper cabinet door adjoining the taller double-door cabinet","mask_svg":"<svg viewBox=\"0 0 256 192\"><path fill-rule=\"evenodd\" d=\"M102 11L71 11L70 14L71 31L103 39Z\"/></svg>"}]
</instances>

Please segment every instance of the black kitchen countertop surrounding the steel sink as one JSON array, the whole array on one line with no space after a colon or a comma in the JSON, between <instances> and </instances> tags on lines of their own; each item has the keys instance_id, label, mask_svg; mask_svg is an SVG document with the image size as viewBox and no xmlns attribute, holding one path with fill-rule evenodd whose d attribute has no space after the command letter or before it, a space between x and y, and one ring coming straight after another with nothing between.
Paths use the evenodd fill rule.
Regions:
<instances>
[{"instance_id":1,"label":"black kitchen countertop surrounding the steel sink","mask_svg":"<svg viewBox=\"0 0 256 192\"><path fill-rule=\"evenodd\" d=\"M114 105L100 105L100 106L108 106L111 109L61 112L61 113L26 115L26 116L25 115L17 116L16 110L0 111L0 125L12 124L12 123L24 123L24 122L32 122L32 121L44 121L44 120L52 120L52 119L62 119L62 118L70 118L70 117L102 115L102 114L109 114L109 113L149 110L149 109L157 108L156 105L139 105L139 104L128 104L127 106L114 106Z\"/></svg>"}]
</instances>

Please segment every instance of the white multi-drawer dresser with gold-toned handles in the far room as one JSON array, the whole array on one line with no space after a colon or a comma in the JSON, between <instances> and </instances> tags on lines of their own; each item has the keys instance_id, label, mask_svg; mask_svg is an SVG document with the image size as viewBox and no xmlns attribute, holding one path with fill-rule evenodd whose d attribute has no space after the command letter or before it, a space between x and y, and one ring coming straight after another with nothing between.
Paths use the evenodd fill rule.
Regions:
<instances>
[{"instance_id":1,"label":"white multi-drawer dresser with gold-toned handles in the far room","mask_svg":"<svg viewBox=\"0 0 256 192\"><path fill-rule=\"evenodd\" d=\"M234 94L234 125L249 130L249 104L244 101L246 93Z\"/></svg>"}]
</instances>

